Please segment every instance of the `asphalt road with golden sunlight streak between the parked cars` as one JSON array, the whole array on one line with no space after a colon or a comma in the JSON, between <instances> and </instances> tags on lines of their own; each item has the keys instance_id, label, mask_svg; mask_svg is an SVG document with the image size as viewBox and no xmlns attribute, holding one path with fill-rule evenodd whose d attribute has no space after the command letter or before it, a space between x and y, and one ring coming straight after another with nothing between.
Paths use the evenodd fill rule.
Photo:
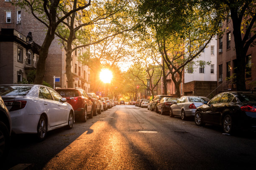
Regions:
<instances>
[{"instance_id":1,"label":"asphalt road with golden sunlight streak between the parked cars","mask_svg":"<svg viewBox=\"0 0 256 170\"><path fill-rule=\"evenodd\" d=\"M256 169L256 133L223 135L219 127L159 115L134 105L61 128L37 143L16 135L3 170ZM16 167L15 167L16 165ZM0 167L0 169L2 169Z\"/></svg>"}]
</instances>

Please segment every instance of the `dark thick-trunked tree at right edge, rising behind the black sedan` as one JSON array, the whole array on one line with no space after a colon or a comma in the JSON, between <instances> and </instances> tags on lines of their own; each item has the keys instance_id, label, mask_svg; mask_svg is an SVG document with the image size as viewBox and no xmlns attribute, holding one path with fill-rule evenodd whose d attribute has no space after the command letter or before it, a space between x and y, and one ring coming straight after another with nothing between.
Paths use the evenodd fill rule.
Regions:
<instances>
[{"instance_id":1,"label":"dark thick-trunked tree at right edge, rising behind the black sedan","mask_svg":"<svg viewBox=\"0 0 256 170\"><path fill-rule=\"evenodd\" d=\"M236 88L246 90L246 53L249 47L256 44L256 1L255 0L207 0L208 5L215 9L222 7L225 15L232 19L233 36L236 49L237 73ZM224 21L224 20L223 20ZM253 35L250 37L250 35Z\"/></svg>"}]
</instances>

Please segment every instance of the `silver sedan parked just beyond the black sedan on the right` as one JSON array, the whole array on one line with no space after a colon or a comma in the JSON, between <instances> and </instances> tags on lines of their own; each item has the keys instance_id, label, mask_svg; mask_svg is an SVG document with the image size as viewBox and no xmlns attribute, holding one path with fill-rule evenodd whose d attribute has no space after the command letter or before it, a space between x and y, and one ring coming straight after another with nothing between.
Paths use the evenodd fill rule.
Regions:
<instances>
[{"instance_id":1,"label":"silver sedan parked just beyond the black sedan on the right","mask_svg":"<svg viewBox=\"0 0 256 170\"><path fill-rule=\"evenodd\" d=\"M207 97L201 96L183 96L170 107L170 117L181 116L182 120L186 120L189 116L195 116L197 107L209 101Z\"/></svg>"}]
</instances>

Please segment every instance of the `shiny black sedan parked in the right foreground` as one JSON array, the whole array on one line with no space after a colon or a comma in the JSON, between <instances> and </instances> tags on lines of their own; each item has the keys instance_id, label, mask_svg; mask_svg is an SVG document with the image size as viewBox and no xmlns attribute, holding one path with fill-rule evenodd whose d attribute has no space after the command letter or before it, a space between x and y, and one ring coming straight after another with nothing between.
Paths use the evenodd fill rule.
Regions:
<instances>
[{"instance_id":1,"label":"shiny black sedan parked in the right foreground","mask_svg":"<svg viewBox=\"0 0 256 170\"><path fill-rule=\"evenodd\" d=\"M220 125L224 133L256 127L256 93L222 92L197 108L195 124Z\"/></svg>"}]
</instances>

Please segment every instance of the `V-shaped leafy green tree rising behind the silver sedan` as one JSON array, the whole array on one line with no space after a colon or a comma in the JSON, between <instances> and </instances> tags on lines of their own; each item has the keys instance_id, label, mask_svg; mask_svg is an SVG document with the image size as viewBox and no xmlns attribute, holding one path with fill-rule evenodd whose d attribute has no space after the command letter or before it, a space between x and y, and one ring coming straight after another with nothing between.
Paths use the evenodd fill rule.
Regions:
<instances>
[{"instance_id":1,"label":"V-shaped leafy green tree rising behind the silver sedan","mask_svg":"<svg viewBox=\"0 0 256 170\"><path fill-rule=\"evenodd\" d=\"M138 29L146 37L155 40L159 53L166 63L175 84L178 97L184 67L207 46L212 37L218 33L221 18L210 7L190 0L157 1L142 0L142 26ZM176 76L176 75L179 76Z\"/></svg>"}]
</instances>

